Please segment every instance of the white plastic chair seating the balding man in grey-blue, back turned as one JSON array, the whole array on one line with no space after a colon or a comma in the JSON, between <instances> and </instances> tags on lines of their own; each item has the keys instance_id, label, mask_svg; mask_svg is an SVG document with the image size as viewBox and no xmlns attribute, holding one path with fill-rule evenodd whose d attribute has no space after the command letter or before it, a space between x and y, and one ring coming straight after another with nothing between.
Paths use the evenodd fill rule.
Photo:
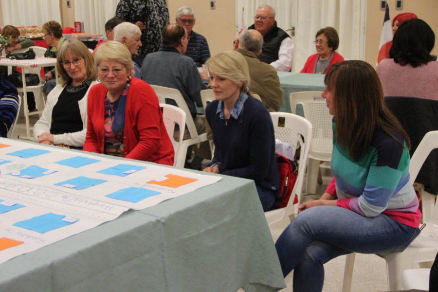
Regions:
<instances>
[{"instance_id":1,"label":"white plastic chair seating the balding man in grey-blue, back turned","mask_svg":"<svg viewBox=\"0 0 438 292\"><path fill-rule=\"evenodd\" d=\"M158 85L150 85L160 100L160 103L165 104L166 99L172 99L176 102L178 107L185 112L185 125L190 133L190 138L186 140L181 140L182 143L179 147L182 148L181 152L178 153L178 157L175 160L175 165L184 165L185 156L187 154L187 148L191 145L199 144L203 141L207 141L207 134L202 133L198 135L198 131L195 128L195 123L193 122L192 115L190 114L190 110L187 107L187 104L184 101L183 95L177 89L167 88ZM184 128L180 128L180 132L184 132Z\"/></svg>"}]
</instances>

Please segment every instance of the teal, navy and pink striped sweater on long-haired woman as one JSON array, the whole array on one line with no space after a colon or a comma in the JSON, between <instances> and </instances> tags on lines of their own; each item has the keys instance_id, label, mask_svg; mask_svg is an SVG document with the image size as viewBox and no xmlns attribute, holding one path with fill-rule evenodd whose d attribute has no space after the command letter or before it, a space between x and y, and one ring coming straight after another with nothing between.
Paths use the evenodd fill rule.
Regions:
<instances>
[{"instance_id":1,"label":"teal, navy and pink striped sweater on long-haired woman","mask_svg":"<svg viewBox=\"0 0 438 292\"><path fill-rule=\"evenodd\" d=\"M400 133L394 133L404 141ZM418 227L421 213L414 188L409 184L409 151L394 138L376 130L369 151L354 161L336 143L333 123L334 174L326 192L338 199L337 205L366 217L381 213L411 227Z\"/></svg>"}]
</instances>

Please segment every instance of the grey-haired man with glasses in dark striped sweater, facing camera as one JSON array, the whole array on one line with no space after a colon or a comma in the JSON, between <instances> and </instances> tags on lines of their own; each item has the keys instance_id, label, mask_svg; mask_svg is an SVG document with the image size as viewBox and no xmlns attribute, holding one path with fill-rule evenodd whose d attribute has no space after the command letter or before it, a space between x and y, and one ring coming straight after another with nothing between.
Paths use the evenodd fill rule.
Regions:
<instances>
[{"instance_id":1,"label":"grey-haired man with glasses in dark striped sweater, facing camera","mask_svg":"<svg viewBox=\"0 0 438 292\"><path fill-rule=\"evenodd\" d=\"M195 12L188 6L180 7L175 20L187 30L189 37L187 51L184 55L191 57L195 61L196 67L202 67L202 64L210 57L210 49L207 39L193 31L196 22Z\"/></svg>"}]
</instances>

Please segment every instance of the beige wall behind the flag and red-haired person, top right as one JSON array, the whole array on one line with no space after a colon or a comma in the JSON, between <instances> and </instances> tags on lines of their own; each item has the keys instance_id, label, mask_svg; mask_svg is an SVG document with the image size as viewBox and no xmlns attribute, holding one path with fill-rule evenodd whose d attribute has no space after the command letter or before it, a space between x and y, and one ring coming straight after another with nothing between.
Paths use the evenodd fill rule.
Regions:
<instances>
[{"instance_id":1,"label":"beige wall behind the flag and red-haired person, top right","mask_svg":"<svg viewBox=\"0 0 438 292\"><path fill-rule=\"evenodd\" d=\"M433 55L438 54L438 0L403 0L403 9L395 10L395 1L388 0L389 17L394 18L399 13L413 12L426 21L435 33ZM376 66L385 12L380 10L379 0L368 0L366 8L365 61Z\"/></svg>"}]
</instances>

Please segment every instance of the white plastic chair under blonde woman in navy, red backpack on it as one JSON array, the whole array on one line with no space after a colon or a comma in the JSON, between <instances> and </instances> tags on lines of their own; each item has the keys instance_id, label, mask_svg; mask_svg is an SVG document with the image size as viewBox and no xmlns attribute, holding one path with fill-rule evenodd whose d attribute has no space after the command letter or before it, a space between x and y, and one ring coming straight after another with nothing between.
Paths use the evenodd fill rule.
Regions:
<instances>
[{"instance_id":1,"label":"white plastic chair under blonde woman in navy, red backpack on it","mask_svg":"<svg viewBox=\"0 0 438 292\"><path fill-rule=\"evenodd\" d=\"M298 195L298 203L302 200L301 193L312 140L312 124L305 118L287 112L271 112L271 118L274 124L275 138L294 146L296 146L298 142L301 146L301 153L298 175L288 205L284 208L265 212L266 220L270 227L286 216L292 220L295 215L293 199L295 195ZM302 138L304 138L304 141Z\"/></svg>"}]
</instances>

